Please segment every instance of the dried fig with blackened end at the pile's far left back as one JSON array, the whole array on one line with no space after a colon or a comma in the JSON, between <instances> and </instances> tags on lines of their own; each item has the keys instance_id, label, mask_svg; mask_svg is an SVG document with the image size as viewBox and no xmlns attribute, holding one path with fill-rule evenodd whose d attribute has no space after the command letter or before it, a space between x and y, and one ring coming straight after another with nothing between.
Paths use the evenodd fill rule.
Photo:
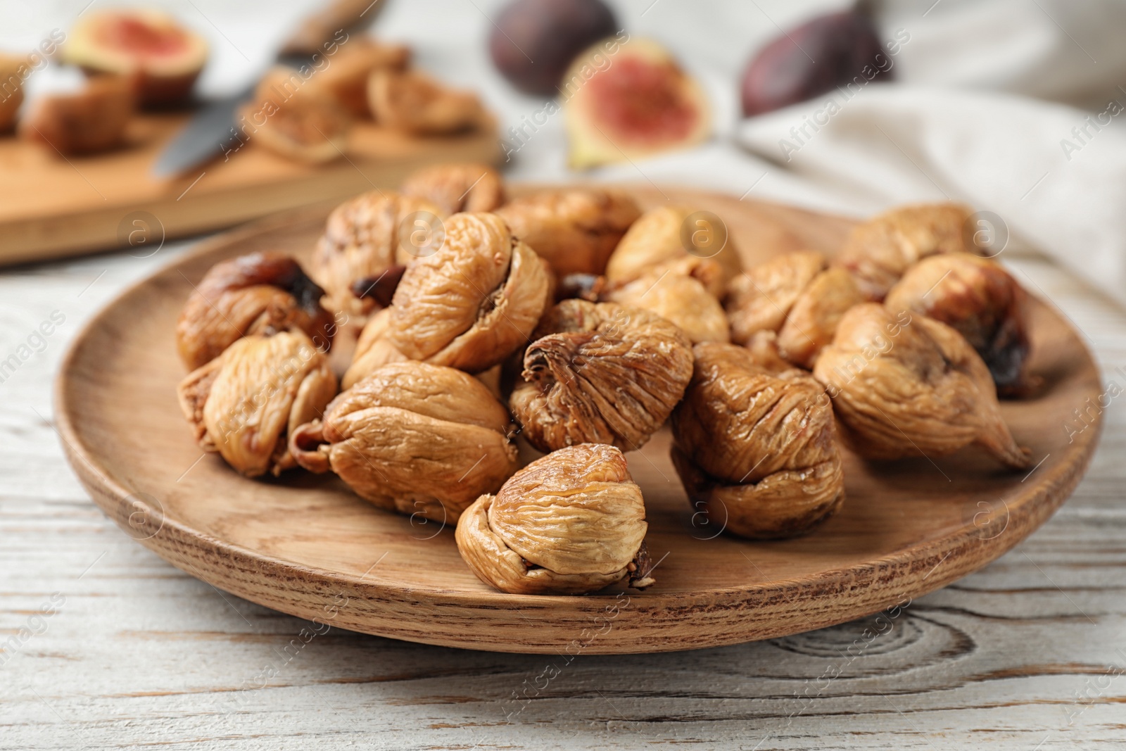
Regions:
<instances>
[{"instance_id":1,"label":"dried fig with blackened end at the pile's far left back","mask_svg":"<svg viewBox=\"0 0 1126 751\"><path fill-rule=\"evenodd\" d=\"M249 253L216 263L188 297L176 324L180 359L195 369L236 339L300 329L328 351L336 325L321 307L324 294L294 259Z\"/></svg>"}]
</instances>

